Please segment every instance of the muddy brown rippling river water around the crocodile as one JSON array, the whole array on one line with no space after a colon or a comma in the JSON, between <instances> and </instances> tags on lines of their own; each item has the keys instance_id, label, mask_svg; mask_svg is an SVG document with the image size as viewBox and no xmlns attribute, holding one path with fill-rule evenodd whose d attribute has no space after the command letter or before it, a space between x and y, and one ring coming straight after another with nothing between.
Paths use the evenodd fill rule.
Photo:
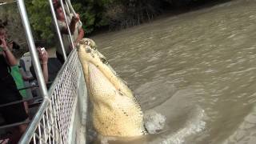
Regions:
<instances>
[{"instance_id":1,"label":"muddy brown rippling river water around the crocodile","mask_svg":"<svg viewBox=\"0 0 256 144\"><path fill-rule=\"evenodd\" d=\"M256 143L256 1L226 2L93 39L134 90L151 130L104 142Z\"/></svg>"}]
</instances>

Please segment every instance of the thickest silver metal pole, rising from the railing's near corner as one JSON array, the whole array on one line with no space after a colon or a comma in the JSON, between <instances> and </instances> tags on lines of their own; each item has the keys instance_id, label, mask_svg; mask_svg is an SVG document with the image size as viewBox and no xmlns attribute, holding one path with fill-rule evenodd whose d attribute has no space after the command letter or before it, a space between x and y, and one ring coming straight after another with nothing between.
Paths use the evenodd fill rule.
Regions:
<instances>
[{"instance_id":1,"label":"thickest silver metal pole, rising from the railing's near corner","mask_svg":"<svg viewBox=\"0 0 256 144\"><path fill-rule=\"evenodd\" d=\"M43 98L48 98L46 82L43 78L41 64L38 59L38 53L37 53L36 47L34 46L34 38L31 33L30 22L27 18L26 7L23 0L17 0L17 5L18 5L19 13L21 14L23 27L25 28L26 40L29 44L30 56L32 58L32 62L34 64L34 70L36 72L36 76L38 79L39 90Z\"/></svg>"}]
</instances>

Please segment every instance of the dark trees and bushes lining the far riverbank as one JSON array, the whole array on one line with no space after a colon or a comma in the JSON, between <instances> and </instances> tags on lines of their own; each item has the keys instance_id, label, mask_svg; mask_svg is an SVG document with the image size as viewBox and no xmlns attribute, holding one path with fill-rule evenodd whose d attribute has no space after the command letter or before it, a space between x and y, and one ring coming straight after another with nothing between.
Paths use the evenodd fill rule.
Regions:
<instances>
[{"instance_id":1,"label":"dark trees and bushes lining the far riverbank","mask_svg":"<svg viewBox=\"0 0 256 144\"><path fill-rule=\"evenodd\" d=\"M159 14L223 0L72 0L86 34L102 28L120 30L147 22ZM54 36L48 1L26 0L30 22L40 38Z\"/></svg>"}]
</instances>

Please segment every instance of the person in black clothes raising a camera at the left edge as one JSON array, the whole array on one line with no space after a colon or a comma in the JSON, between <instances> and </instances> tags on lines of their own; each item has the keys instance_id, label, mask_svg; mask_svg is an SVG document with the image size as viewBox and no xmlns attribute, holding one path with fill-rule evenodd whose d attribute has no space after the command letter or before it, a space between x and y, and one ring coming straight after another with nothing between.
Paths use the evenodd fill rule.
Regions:
<instances>
[{"instance_id":1,"label":"person in black clothes raising a camera at the left edge","mask_svg":"<svg viewBox=\"0 0 256 144\"><path fill-rule=\"evenodd\" d=\"M18 64L14 54L10 51L6 43L6 30L0 26L0 105L22 100L14 78L11 76L11 66ZM23 102L0 107L0 113L5 120L5 124L12 124L15 122L23 122L28 119ZM18 142L18 139L25 132L27 124L19 125L13 132L11 141Z\"/></svg>"}]
</instances>

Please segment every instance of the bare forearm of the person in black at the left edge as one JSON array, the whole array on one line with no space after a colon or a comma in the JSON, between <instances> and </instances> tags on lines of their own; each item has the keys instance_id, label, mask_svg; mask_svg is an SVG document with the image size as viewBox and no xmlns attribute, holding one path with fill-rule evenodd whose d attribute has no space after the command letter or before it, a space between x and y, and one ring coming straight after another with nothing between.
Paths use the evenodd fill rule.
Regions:
<instances>
[{"instance_id":1,"label":"bare forearm of the person in black at the left edge","mask_svg":"<svg viewBox=\"0 0 256 144\"><path fill-rule=\"evenodd\" d=\"M18 64L17 59L14 57L14 54L9 50L8 46L6 45L5 38L1 38L2 41L2 50L4 51L3 55L6 57L7 62L10 66L16 66Z\"/></svg>"}]
</instances>

